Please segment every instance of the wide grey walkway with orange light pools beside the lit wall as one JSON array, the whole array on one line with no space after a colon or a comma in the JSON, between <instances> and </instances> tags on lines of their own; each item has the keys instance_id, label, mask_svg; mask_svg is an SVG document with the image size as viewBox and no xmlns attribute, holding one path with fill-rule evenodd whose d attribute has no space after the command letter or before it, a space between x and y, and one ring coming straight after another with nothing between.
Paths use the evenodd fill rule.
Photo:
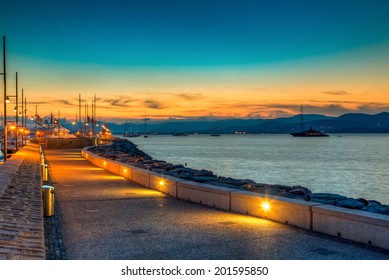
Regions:
<instances>
[{"instance_id":1,"label":"wide grey walkway with orange light pools beside the lit wall","mask_svg":"<svg viewBox=\"0 0 389 280\"><path fill-rule=\"evenodd\" d=\"M389 259L389 252L167 197L47 150L69 259Z\"/></svg>"}]
</instances>

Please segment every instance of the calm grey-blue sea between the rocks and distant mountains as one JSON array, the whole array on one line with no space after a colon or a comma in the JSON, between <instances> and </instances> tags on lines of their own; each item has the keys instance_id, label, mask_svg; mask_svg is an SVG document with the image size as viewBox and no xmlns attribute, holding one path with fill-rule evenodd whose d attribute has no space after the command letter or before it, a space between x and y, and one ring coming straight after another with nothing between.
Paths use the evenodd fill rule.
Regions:
<instances>
[{"instance_id":1,"label":"calm grey-blue sea between the rocks and distant mountains","mask_svg":"<svg viewBox=\"0 0 389 280\"><path fill-rule=\"evenodd\" d=\"M155 159L219 176L301 185L389 204L389 135L156 135L129 138Z\"/></svg>"}]
</instances>

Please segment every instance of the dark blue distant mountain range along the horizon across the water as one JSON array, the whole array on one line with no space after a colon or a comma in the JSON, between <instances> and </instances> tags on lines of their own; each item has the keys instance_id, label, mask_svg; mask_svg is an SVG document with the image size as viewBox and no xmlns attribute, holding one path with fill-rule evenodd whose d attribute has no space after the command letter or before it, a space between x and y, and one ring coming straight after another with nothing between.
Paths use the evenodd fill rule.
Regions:
<instances>
[{"instance_id":1,"label":"dark blue distant mountain range along the horizon across the water","mask_svg":"<svg viewBox=\"0 0 389 280\"><path fill-rule=\"evenodd\" d=\"M114 134L129 131L130 124L107 123ZM376 115L350 113L339 117L304 114L304 129L313 127L325 133L389 133L389 113ZM69 125L69 129L71 126ZM143 121L134 123L132 132L144 132ZM199 133L210 134L218 131L221 134L246 132L250 134L270 133L285 134L301 130L301 115L277 119L170 119L147 122L149 134Z\"/></svg>"}]
</instances>

